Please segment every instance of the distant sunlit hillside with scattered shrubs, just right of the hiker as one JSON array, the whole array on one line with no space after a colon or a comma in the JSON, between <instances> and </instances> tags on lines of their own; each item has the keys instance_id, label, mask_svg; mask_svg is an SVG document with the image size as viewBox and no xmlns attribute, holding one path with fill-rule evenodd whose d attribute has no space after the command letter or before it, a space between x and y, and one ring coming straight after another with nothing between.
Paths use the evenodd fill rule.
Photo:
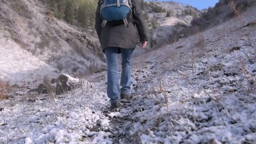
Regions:
<instances>
[{"instance_id":1,"label":"distant sunlit hillside with scattered shrubs, just right of the hiker","mask_svg":"<svg viewBox=\"0 0 256 144\"><path fill-rule=\"evenodd\" d=\"M173 33L182 31L191 25L193 18L197 18L202 13L192 6L184 6L175 2L144 2L144 13L147 13L147 25L150 32L150 40L147 51L156 49L162 45L171 43ZM164 11L154 11L154 9ZM170 12L170 16L166 14ZM143 51L136 51L139 55Z\"/></svg>"}]
</instances>

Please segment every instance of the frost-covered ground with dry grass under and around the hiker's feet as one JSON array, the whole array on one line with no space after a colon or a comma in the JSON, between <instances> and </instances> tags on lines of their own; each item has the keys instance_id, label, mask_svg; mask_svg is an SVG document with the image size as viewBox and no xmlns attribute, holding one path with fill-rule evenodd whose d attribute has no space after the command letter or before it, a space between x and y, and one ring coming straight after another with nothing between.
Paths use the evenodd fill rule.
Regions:
<instances>
[{"instance_id":1,"label":"frost-covered ground with dry grass under and around the hiker's feet","mask_svg":"<svg viewBox=\"0 0 256 144\"><path fill-rule=\"evenodd\" d=\"M256 18L244 18L136 57L120 113L106 72L58 99L0 101L0 143L256 143L256 27L243 27Z\"/></svg>"}]
</instances>

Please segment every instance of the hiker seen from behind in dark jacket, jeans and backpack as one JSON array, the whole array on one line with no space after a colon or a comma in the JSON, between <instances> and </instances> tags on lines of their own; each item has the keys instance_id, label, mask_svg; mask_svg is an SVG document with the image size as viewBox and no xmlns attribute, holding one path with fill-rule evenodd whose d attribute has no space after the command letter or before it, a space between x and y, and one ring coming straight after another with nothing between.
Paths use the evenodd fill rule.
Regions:
<instances>
[{"instance_id":1,"label":"hiker seen from behind in dark jacket, jeans and backpack","mask_svg":"<svg viewBox=\"0 0 256 144\"><path fill-rule=\"evenodd\" d=\"M107 95L111 112L120 111L120 101L129 102L131 58L138 42L147 46L148 33L139 0L99 0L95 28L107 58ZM118 79L117 55L122 55L121 88Z\"/></svg>"}]
</instances>

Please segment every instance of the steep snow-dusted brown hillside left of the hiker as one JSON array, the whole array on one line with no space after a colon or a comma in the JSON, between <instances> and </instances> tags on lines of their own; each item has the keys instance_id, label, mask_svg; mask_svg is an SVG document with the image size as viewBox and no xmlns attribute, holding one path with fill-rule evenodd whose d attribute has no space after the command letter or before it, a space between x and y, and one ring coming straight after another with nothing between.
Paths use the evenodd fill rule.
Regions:
<instances>
[{"instance_id":1,"label":"steep snow-dusted brown hillside left of the hiker","mask_svg":"<svg viewBox=\"0 0 256 144\"><path fill-rule=\"evenodd\" d=\"M43 1L1 0L0 19L1 79L27 83L105 67L94 32L56 19Z\"/></svg>"}]
</instances>

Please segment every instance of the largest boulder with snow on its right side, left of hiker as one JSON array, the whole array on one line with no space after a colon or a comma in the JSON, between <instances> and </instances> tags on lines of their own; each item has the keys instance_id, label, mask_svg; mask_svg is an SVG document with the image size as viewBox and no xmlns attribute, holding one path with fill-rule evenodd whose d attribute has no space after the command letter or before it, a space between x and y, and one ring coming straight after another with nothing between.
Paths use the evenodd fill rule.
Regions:
<instances>
[{"instance_id":1,"label":"largest boulder with snow on its right side, left of hiker","mask_svg":"<svg viewBox=\"0 0 256 144\"><path fill-rule=\"evenodd\" d=\"M78 85L79 82L80 80L77 78L62 74L57 78L55 94L58 96L65 91L70 91L75 88L75 86Z\"/></svg>"}]
</instances>

